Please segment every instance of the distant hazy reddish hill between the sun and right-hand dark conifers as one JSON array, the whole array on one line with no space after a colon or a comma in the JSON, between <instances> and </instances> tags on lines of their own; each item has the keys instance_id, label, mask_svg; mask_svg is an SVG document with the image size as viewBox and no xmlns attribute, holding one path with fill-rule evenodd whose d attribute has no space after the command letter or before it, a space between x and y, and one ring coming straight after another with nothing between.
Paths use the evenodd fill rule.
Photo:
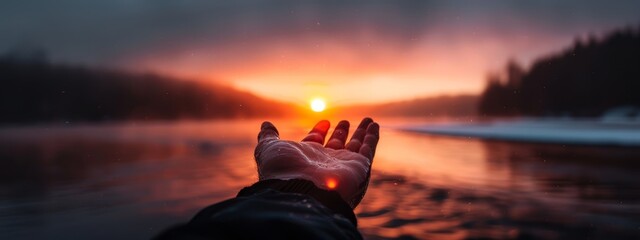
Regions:
<instances>
[{"instance_id":1,"label":"distant hazy reddish hill between the sun and right-hand dark conifers","mask_svg":"<svg viewBox=\"0 0 640 240\"><path fill-rule=\"evenodd\" d=\"M355 105L335 109L340 116L373 117L462 117L476 114L478 96L457 95L418 98L382 104Z\"/></svg>"}]
</instances>

